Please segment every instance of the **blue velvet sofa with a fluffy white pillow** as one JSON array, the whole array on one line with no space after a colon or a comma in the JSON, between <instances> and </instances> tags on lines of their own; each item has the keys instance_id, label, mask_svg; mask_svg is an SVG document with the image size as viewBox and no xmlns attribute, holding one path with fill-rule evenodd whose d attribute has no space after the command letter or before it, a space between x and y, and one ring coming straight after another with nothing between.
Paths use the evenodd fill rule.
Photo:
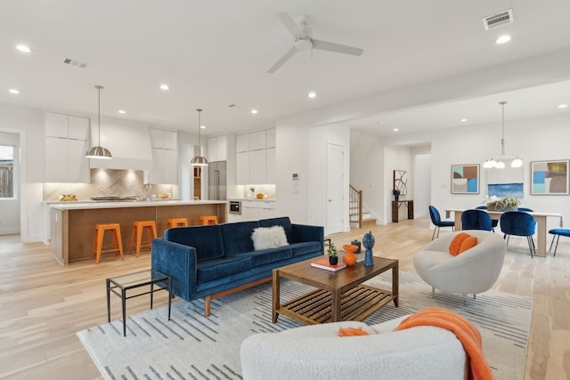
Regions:
<instances>
[{"instance_id":1,"label":"blue velvet sofa with a fluffy white pillow","mask_svg":"<svg viewBox=\"0 0 570 380\"><path fill-rule=\"evenodd\" d=\"M257 227L280 225L288 246L254 250ZM212 299L272 279L274 268L323 255L324 228L291 223L289 217L255 222L176 227L152 239L153 270L172 276L172 293L186 301Z\"/></svg>"}]
</instances>

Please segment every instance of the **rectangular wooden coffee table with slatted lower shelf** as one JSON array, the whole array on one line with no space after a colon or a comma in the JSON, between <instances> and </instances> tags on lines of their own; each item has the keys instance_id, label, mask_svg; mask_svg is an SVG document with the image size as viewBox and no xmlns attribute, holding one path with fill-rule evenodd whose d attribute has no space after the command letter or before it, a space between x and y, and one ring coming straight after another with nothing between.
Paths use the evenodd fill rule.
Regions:
<instances>
[{"instance_id":1,"label":"rectangular wooden coffee table with slatted lower shelf","mask_svg":"<svg viewBox=\"0 0 570 380\"><path fill-rule=\"evenodd\" d=\"M273 270L273 323L279 314L307 325L362 320L394 301L398 307L398 261L374 257L374 265L355 263L340 271L325 271L311 266L313 258ZM392 291L362 285L362 282L392 270ZM280 281L293 279L316 287L312 292L281 303Z\"/></svg>"}]
</instances>

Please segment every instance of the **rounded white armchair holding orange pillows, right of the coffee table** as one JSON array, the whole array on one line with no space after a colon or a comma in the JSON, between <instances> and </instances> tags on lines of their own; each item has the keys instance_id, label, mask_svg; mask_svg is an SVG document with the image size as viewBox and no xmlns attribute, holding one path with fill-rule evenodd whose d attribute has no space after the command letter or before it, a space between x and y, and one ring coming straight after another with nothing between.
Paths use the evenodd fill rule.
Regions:
<instances>
[{"instance_id":1,"label":"rounded white armchair holding orange pillows, right of the coffee table","mask_svg":"<svg viewBox=\"0 0 570 380\"><path fill-rule=\"evenodd\" d=\"M476 236L477 245L460 255L449 253L452 239L466 232ZM426 281L432 292L475 295L493 287L501 273L505 259L505 241L501 236L486 230L463 230L433 240L413 256L413 265L419 277Z\"/></svg>"}]
</instances>

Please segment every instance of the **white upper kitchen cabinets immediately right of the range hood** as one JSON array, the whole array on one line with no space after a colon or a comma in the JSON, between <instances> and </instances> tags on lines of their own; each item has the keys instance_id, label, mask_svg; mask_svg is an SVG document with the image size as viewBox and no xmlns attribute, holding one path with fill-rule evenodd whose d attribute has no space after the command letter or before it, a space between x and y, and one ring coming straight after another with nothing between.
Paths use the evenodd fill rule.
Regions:
<instances>
[{"instance_id":1,"label":"white upper kitchen cabinets immediately right of the range hood","mask_svg":"<svg viewBox=\"0 0 570 380\"><path fill-rule=\"evenodd\" d=\"M178 135L173 131L149 128L151 133L152 170L148 182L178 183Z\"/></svg>"}]
</instances>

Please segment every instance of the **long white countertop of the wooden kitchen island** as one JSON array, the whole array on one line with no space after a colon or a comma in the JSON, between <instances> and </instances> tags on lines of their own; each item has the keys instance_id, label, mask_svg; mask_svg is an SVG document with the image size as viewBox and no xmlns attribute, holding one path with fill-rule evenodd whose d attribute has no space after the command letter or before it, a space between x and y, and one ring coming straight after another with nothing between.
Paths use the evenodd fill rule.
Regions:
<instances>
[{"instance_id":1,"label":"long white countertop of the wooden kitchen island","mask_svg":"<svg viewBox=\"0 0 570 380\"><path fill-rule=\"evenodd\" d=\"M154 206L183 206L183 205L223 205L225 200L137 200L128 202L95 202L95 201L69 201L45 202L58 210L89 210L97 208L125 208L125 207L154 207Z\"/></svg>"}]
</instances>

